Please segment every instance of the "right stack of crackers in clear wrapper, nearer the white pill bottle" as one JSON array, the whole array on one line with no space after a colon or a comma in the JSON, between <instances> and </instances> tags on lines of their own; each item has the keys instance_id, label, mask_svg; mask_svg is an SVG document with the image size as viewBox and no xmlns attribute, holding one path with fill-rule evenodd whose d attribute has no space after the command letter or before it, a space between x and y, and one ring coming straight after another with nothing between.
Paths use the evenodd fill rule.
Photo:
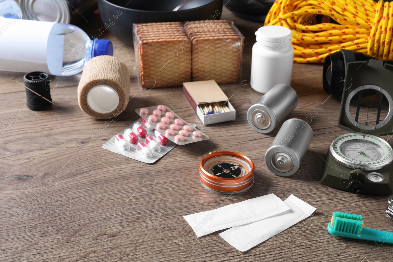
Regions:
<instances>
[{"instance_id":1,"label":"right stack of crackers in clear wrapper, nearer the white pill bottle","mask_svg":"<svg viewBox=\"0 0 393 262\"><path fill-rule=\"evenodd\" d=\"M184 29L192 41L192 81L240 81L244 37L233 22L193 21L186 22Z\"/></svg>"}]
</instances>

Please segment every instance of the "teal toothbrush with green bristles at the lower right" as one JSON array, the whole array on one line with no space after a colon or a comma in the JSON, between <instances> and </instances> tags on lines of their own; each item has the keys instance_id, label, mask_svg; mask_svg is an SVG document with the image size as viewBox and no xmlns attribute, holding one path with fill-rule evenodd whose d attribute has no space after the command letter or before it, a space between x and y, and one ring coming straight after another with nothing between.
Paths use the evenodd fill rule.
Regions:
<instances>
[{"instance_id":1,"label":"teal toothbrush with green bristles at the lower right","mask_svg":"<svg viewBox=\"0 0 393 262\"><path fill-rule=\"evenodd\" d=\"M356 214L333 212L327 231L335 236L393 244L393 233L363 227L362 219Z\"/></svg>"}]
</instances>

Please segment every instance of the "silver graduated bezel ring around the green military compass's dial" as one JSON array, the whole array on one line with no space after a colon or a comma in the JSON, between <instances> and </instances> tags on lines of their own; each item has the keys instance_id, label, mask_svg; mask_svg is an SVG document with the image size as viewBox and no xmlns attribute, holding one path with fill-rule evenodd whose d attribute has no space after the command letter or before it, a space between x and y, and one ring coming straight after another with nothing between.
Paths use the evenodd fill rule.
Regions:
<instances>
[{"instance_id":1,"label":"silver graduated bezel ring around the green military compass's dial","mask_svg":"<svg viewBox=\"0 0 393 262\"><path fill-rule=\"evenodd\" d=\"M382 163L378 163L378 164L356 164L353 163L351 161L348 161L346 159L341 158L333 149L333 145L334 143L336 143L336 141L342 137L345 136L349 136L349 135L367 135L367 136L372 136L372 137L376 137L377 139L380 139L380 141L382 141L382 143L384 143L385 145L387 145L387 147L390 148L390 152L392 152L391 156L389 157L389 159L387 159L386 161L382 162ZM392 163L393 161L393 149L392 147L389 145L389 143L387 143L384 139L381 139L380 137L374 136L374 135L370 135L370 134L364 134L364 133L350 133L350 134L345 134L342 136L337 137L336 139L333 140L333 142L330 144L329 147L330 153L332 155L332 157L334 158L334 160L336 160L338 163L340 163L341 165L345 166L345 167L349 167L349 168L353 168L353 169L360 169L360 170L365 170L365 171L372 171L372 170L377 170L377 169L382 169L388 165L390 165L390 163Z\"/></svg>"}]
</instances>

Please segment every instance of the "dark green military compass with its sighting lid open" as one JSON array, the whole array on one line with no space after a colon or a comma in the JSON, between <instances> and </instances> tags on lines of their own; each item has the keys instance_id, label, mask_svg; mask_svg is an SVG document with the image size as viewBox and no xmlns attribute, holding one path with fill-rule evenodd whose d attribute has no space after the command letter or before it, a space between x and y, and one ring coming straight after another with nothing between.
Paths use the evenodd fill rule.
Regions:
<instances>
[{"instance_id":1,"label":"dark green military compass with its sighting lid open","mask_svg":"<svg viewBox=\"0 0 393 262\"><path fill-rule=\"evenodd\" d=\"M350 62L345 72L337 137L327 152L321 183L352 193L393 192L393 150L379 136L393 132L393 66Z\"/></svg>"}]
</instances>

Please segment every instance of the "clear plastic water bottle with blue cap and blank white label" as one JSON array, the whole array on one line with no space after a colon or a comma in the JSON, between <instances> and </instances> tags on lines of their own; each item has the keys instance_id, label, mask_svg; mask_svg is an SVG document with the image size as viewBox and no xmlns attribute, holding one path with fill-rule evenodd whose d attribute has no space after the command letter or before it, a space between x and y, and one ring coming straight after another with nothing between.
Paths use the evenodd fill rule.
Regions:
<instances>
[{"instance_id":1,"label":"clear plastic water bottle with blue cap and blank white label","mask_svg":"<svg viewBox=\"0 0 393 262\"><path fill-rule=\"evenodd\" d=\"M0 18L0 70L75 75L98 55L113 55L112 42L90 40L79 27Z\"/></svg>"}]
</instances>

